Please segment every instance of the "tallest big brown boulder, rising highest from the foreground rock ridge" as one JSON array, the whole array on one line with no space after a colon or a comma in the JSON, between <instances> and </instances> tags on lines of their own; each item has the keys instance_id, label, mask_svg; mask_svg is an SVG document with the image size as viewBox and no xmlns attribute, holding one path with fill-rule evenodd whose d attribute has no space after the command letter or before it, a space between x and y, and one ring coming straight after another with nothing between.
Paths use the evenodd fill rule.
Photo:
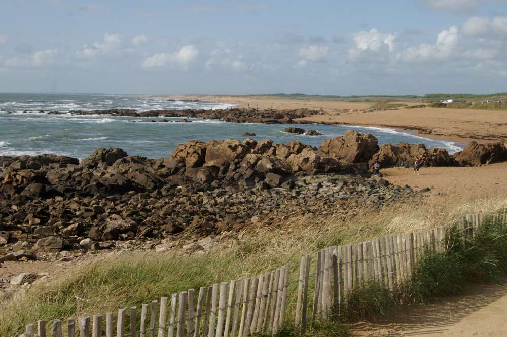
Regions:
<instances>
[{"instance_id":1,"label":"tallest big brown boulder, rising highest from the foreground rock ridge","mask_svg":"<svg viewBox=\"0 0 507 337\"><path fill-rule=\"evenodd\" d=\"M371 133L347 130L341 137L325 140L319 151L347 163L368 163L378 151L378 141Z\"/></svg>"}]
</instances>

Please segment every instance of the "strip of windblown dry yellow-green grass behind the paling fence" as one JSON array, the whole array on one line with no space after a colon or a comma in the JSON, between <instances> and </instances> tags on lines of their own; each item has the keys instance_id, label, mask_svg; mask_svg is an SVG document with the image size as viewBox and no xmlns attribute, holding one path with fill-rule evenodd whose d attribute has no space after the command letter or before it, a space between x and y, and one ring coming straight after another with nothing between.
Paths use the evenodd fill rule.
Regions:
<instances>
[{"instance_id":1,"label":"strip of windblown dry yellow-green grass behind the paling fence","mask_svg":"<svg viewBox=\"0 0 507 337\"><path fill-rule=\"evenodd\" d=\"M410 232L456 221L465 213L507 207L507 196L453 202L429 198L377 212L308 219L289 218L277 226L249 227L228 247L220 245L204 256L123 252L100 255L48 285L35 285L26 294L0 303L0 335L16 336L39 319L76 317L148 303L174 292L258 275L291 263L297 278L301 256L330 245L360 242L385 234ZM295 305L295 287L288 306ZM288 315L287 319L291 319Z\"/></svg>"}]
</instances>

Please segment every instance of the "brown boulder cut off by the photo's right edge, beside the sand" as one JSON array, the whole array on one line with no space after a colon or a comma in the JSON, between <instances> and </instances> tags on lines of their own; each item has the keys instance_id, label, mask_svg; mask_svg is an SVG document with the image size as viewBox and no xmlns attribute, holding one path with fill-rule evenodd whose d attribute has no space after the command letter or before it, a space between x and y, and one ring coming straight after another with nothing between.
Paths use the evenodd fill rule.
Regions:
<instances>
[{"instance_id":1,"label":"brown boulder cut off by the photo's right edge, beside the sand","mask_svg":"<svg viewBox=\"0 0 507 337\"><path fill-rule=\"evenodd\" d=\"M478 144L472 141L454 159L464 165L492 164L507 160L507 148L503 143Z\"/></svg>"}]
</instances>

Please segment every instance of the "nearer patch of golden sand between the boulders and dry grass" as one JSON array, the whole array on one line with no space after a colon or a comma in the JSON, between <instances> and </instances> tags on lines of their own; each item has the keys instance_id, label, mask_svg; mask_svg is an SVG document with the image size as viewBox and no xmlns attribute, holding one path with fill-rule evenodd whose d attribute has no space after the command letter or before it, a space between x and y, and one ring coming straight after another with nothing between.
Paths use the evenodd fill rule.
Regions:
<instances>
[{"instance_id":1,"label":"nearer patch of golden sand between the boulders and dry grass","mask_svg":"<svg viewBox=\"0 0 507 337\"><path fill-rule=\"evenodd\" d=\"M507 162L481 167L428 167L414 175L411 168L381 170L384 179L396 185L408 184L413 189L430 187L431 193L443 193L448 198L507 195Z\"/></svg>"}]
</instances>

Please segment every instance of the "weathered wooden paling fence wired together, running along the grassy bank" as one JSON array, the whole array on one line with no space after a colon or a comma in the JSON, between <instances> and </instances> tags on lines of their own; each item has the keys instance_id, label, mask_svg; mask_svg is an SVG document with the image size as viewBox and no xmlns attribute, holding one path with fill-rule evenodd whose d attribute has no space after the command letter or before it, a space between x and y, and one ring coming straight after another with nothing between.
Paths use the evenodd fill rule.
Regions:
<instances>
[{"instance_id":1,"label":"weathered wooden paling fence wired together, running along the grassy bank","mask_svg":"<svg viewBox=\"0 0 507 337\"><path fill-rule=\"evenodd\" d=\"M256 277L201 287L198 294L190 289L115 314L56 319L48 325L41 320L26 325L21 336L247 337L274 335L289 325L303 333L317 320L340 316L356 286L376 282L395 294L424 254L446 253L455 239L452 233L473 238L486 220L507 224L505 214L466 215L457 224L428 231L331 246L313 259L303 256L294 280L289 265L284 265ZM297 291L290 297L296 298L292 306L287 306L289 291Z\"/></svg>"}]
</instances>

